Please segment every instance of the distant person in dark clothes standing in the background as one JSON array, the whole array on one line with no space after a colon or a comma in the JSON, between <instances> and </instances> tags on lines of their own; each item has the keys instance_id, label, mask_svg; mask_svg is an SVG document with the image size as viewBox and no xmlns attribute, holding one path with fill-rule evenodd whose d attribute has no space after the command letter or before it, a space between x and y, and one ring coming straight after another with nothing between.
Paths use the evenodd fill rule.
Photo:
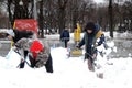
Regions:
<instances>
[{"instance_id":1,"label":"distant person in dark clothes standing in the background","mask_svg":"<svg viewBox=\"0 0 132 88\"><path fill-rule=\"evenodd\" d=\"M64 30L61 33L61 41L65 43L65 47L67 47L67 43L68 43L69 38L70 38L70 35L69 35L68 30Z\"/></svg>"}]
</instances>

